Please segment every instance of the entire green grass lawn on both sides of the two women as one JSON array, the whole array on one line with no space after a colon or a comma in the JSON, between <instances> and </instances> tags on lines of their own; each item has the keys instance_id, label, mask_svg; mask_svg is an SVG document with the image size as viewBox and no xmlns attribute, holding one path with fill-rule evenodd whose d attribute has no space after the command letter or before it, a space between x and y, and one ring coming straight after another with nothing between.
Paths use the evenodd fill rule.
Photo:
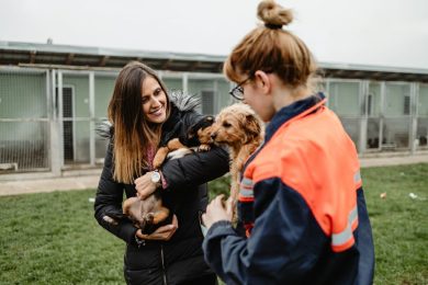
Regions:
<instances>
[{"instance_id":1,"label":"entire green grass lawn on both sides of the two women","mask_svg":"<svg viewBox=\"0 0 428 285\"><path fill-rule=\"evenodd\" d=\"M362 176L374 283L428 284L428 164L363 169ZM210 189L226 193L227 184L221 179ZM93 196L94 190L0 197L0 284L124 284L124 243L98 226Z\"/></svg>"}]
</instances>

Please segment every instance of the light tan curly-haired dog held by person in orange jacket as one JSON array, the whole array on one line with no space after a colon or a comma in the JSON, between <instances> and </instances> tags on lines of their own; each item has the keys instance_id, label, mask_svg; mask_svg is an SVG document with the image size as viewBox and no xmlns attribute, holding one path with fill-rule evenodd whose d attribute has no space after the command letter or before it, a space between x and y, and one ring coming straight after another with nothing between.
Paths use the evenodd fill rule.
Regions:
<instances>
[{"instance_id":1,"label":"light tan curly-haired dog held by person in orange jacket","mask_svg":"<svg viewBox=\"0 0 428 285\"><path fill-rule=\"evenodd\" d=\"M256 151L264 138L264 123L247 104L236 103L223 109L212 126L214 142L229 147L230 196L236 205L239 194L239 173L248 157ZM235 215L234 210L234 215Z\"/></svg>"}]
</instances>

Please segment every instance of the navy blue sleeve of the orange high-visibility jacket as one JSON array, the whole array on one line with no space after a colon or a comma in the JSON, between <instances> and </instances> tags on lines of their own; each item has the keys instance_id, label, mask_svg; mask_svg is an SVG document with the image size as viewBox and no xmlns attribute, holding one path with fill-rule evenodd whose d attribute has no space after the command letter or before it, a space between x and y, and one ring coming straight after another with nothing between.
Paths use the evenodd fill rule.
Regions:
<instances>
[{"instance_id":1,"label":"navy blue sleeve of the orange high-visibility jacket","mask_svg":"<svg viewBox=\"0 0 428 285\"><path fill-rule=\"evenodd\" d=\"M227 284L294 284L311 270L327 239L314 238L323 232L309 208L281 180L258 182L255 195L251 236L238 236L228 221L215 223L203 242L205 261Z\"/></svg>"}]
</instances>

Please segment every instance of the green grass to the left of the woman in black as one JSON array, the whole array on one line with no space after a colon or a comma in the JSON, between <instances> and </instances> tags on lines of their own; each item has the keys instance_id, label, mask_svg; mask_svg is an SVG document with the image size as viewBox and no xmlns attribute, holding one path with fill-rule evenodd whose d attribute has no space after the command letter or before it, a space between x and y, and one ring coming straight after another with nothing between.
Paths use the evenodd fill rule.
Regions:
<instances>
[{"instance_id":1,"label":"green grass to the left of the woman in black","mask_svg":"<svg viewBox=\"0 0 428 285\"><path fill-rule=\"evenodd\" d=\"M93 218L94 191L0 198L1 284L123 283L124 244Z\"/></svg>"}]
</instances>

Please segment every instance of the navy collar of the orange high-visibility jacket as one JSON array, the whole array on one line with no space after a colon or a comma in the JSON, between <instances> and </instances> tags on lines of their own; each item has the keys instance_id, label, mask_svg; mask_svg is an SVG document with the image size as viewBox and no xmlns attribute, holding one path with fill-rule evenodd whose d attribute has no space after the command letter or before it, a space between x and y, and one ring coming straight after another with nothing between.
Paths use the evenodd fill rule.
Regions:
<instances>
[{"instance_id":1,"label":"navy collar of the orange high-visibility jacket","mask_svg":"<svg viewBox=\"0 0 428 285\"><path fill-rule=\"evenodd\" d=\"M271 139L273 134L284 123L297 116L299 114L302 114L306 110L314 107L324 99L325 95L322 92L318 92L309 98L296 101L288 106L282 107L280 111L277 112L277 114L272 117L271 122L267 126L264 141L267 142L269 139Z\"/></svg>"}]
</instances>

